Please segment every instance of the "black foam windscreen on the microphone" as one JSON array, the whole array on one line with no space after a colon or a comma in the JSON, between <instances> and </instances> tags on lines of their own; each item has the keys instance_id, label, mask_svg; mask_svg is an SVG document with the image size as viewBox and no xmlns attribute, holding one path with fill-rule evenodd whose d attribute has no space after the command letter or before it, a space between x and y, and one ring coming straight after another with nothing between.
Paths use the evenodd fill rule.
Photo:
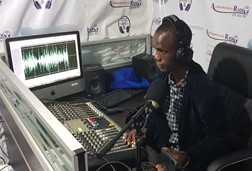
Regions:
<instances>
[{"instance_id":1,"label":"black foam windscreen on the microphone","mask_svg":"<svg viewBox=\"0 0 252 171\"><path fill-rule=\"evenodd\" d=\"M162 79L152 81L148 91L145 95L145 100L157 102L159 105L165 101L169 90L169 85Z\"/></svg>"}]
</instances>

